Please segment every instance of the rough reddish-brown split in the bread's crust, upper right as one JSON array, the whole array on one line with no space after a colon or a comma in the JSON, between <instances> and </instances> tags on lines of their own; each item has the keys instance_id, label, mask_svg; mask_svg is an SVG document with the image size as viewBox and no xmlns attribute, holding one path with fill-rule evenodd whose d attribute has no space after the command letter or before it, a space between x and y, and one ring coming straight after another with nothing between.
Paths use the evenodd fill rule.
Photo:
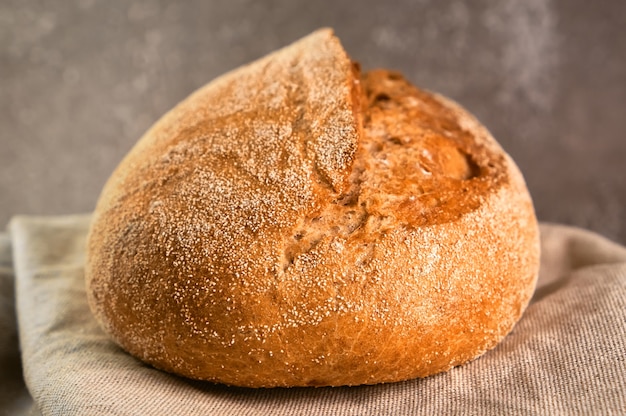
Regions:
<instances>
[{"instance_id":1,"label":"rough reddish-brown split in the bread's crust, upper right","mask_svg":"<svg viewBox=\"0 0 626 416\"><path fill-rule=\"evenodd\" d=\"M326 204L287 230L283 270L323 239L375 241L394 227L454 221L504 180L502 160L433 96L397 72L357 71L362 126L347 187L333 193L322 181Z\"/></svg>"}]
</instances>

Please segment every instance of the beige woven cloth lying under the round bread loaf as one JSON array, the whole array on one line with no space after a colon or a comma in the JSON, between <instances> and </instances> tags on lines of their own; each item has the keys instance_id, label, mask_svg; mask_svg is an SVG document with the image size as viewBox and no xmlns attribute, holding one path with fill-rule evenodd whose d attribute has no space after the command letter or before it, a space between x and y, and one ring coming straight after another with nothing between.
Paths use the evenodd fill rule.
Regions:
<instances>
[{"instance_id":1,"label":"beige woven cloth lying under the round bread loaf","mask_svg":"<svg viewBox=\"0 0 626 416\"><path fill-rule=\"evenodd\" d=\"M83 284L88 216L10 226L24 375L44 415L626 414L626 248L542 225L539 286L494 350L422 380L248 390L178 378L112 344Z\"/></svg>"}]
</instances>

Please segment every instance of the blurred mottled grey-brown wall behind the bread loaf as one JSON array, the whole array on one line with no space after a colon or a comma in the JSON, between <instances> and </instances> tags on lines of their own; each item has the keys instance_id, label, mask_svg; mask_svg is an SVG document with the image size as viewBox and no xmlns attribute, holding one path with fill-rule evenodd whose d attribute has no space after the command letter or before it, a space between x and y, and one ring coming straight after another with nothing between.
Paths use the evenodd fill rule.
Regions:
<instances>
[{"instance_id":1,"label":"blurred mottled grey-brown wall behind the bread loaf","mask_svg":"<svg viewBox=\"0 0 626 416\"><path fill-rule=\"evenodd\" d=\"M238 65L331 26L365 68L476 114L543 221L626 242L626 2L0 3L0 226L93 209L161 114Z\"/></svg>"}]
</instances>

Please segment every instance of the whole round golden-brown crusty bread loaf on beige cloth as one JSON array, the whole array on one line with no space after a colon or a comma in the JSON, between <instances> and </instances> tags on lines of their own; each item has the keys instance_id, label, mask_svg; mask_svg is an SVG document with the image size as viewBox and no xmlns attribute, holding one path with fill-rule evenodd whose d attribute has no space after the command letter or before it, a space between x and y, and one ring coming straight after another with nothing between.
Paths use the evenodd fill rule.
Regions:
<instances>
[{"instance_id":1,"label":"whole round golden-brown crusty bread loaf on beige cloth","mask_svg":"<svg viewBox=\"0 0 626 416\"><path fill-rule=\"evenodd\" d=\"M102 192L89 303L130 354L237 386L424 377L511 331L532 202L471 115L328 29L175 107Z\"/></svg>"}]
</instances>

